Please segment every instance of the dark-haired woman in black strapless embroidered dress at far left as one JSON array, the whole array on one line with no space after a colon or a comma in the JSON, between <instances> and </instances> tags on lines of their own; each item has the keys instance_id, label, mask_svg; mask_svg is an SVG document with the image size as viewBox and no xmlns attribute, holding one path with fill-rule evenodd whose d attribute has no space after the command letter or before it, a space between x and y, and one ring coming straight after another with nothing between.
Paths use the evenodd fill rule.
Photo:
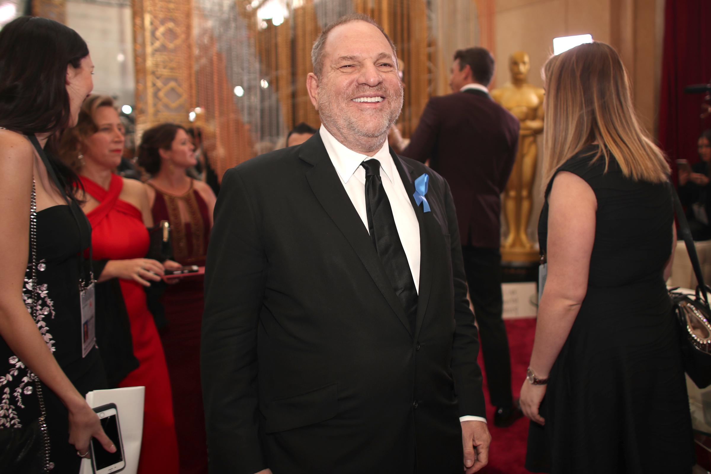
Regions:
<instances>
[{"instance_id":1,"label":"dark-haired woman in black strapless embroidered dress at far left","mask_svg":"<svg viewBox=\"0 0 711 474\"><path fill-rule=\"evenodd\" d=\"M84 399L106 385L97 348L82 357L91 230L68 198L76 176L41 148L77 121L92 69L86 43L60 23L25 16L0 31L3 473L75 474L92 436L115 450Z\"/></svg>"}]
</instances>

